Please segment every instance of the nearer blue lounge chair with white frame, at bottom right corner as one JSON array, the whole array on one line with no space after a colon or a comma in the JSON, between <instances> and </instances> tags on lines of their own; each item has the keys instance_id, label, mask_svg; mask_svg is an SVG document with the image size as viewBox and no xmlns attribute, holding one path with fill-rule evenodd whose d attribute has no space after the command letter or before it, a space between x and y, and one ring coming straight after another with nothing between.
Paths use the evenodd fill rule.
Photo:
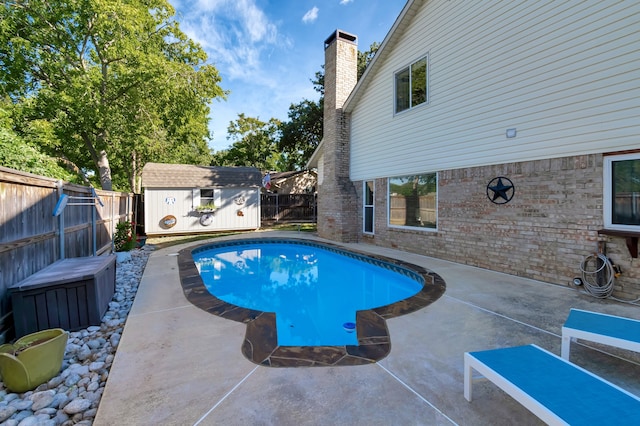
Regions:
<instances>
[{"instance_id":1,"label":"nearer blue lounge chair with white frame, at bottom right corner","mask_svg":"<svg viewBox=\"0 0 640 426\"><path fill-rule=\"evenodd\" d=\"M640 398L536 345L464 354L464 397L478 371L550 425L639 425Z\"/></svg>"}]
</instances>

